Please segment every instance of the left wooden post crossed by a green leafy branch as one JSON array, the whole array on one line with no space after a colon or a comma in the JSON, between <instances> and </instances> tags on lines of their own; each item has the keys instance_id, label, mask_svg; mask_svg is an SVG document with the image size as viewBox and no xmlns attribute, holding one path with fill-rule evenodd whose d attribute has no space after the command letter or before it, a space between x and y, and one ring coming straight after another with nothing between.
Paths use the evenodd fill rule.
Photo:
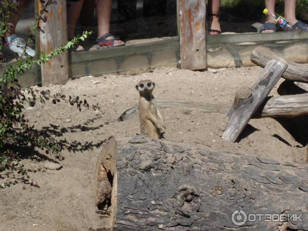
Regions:
<instances>
[{"instance_id":1,"label":"left wooden post crossed by a green leafy branch","mask_svg":"<svg viewBox=\"0 0 308 231\"><path fill-rule=\"evenodd\" d=\"M41 22L41 28L45 33L40 32L41 51L49 53L59 46L64 46L67 41L66 22L66 1L57 0L57 4L47 7L48 13L42 15L47 18L47 22ZM41 14L41 3L38 7ZM64 52L53 57L52 61L42 64L42 85L65 84L68 80L68 53Z\"/></svg>"}]
</instances>

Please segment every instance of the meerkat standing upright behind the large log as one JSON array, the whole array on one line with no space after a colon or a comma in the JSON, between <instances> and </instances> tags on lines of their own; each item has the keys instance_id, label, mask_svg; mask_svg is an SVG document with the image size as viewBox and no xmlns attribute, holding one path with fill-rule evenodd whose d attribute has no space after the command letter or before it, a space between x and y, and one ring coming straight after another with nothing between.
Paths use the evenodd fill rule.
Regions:
<instances>
[{"instance_id":1,"label":"meerkat standing upright behind the large log","mask_svg":"<svg viewBox=\"0 0 308 231\"><path fill-rule=\"evenodd\" d=\"M154 87L155 83L150 80L142 80L136 85L140 94L138 106L140 131L150 138L161 139L166 125L152 95Z\"/></svg>"}]
</instances>

